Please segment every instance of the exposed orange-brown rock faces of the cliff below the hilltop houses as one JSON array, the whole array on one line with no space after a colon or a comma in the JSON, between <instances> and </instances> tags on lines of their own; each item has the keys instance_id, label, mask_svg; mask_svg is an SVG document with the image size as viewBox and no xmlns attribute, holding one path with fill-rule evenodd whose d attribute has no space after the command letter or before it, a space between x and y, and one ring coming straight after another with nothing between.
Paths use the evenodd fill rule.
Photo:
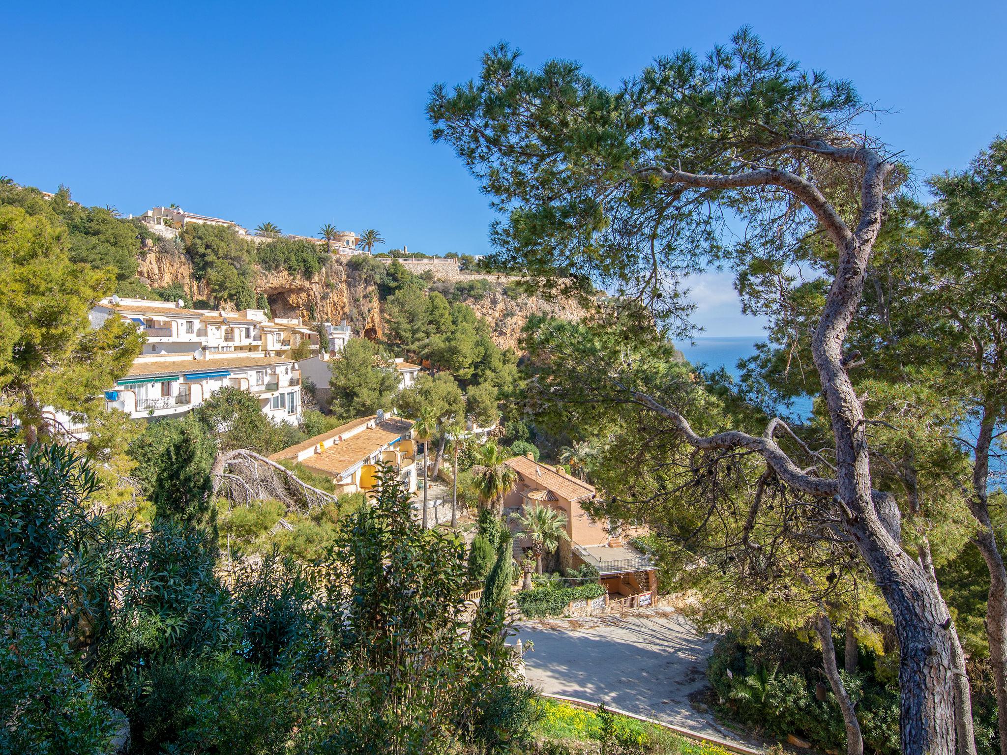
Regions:
<instances>
[{"instance_id":1,"label":"exposed orange-brown rock faces of the cliff below the hilltop houses","mask_svg":"<svg viewBox=\"0 0 1007 755\"><path fill-rule=\"evenodd\" d=\"M147 252L140 258L137 274L151 288L180 283L191 298L210 298L204 282L192 277L192 265L181 253ZM285 270L259 270L254 288L256 294L266 295L274 317L346 320L354 333L381 335L381 304L376 288L341 258L333 257L312 278ZM583 314L577 304L566 300L525 295L512 298L503 292L502 284L477 299L463 301L489 322L493 340L500 348L517 348L521 330L533 314L563 319L577 319Z\"/></svg>"}]
</instances>

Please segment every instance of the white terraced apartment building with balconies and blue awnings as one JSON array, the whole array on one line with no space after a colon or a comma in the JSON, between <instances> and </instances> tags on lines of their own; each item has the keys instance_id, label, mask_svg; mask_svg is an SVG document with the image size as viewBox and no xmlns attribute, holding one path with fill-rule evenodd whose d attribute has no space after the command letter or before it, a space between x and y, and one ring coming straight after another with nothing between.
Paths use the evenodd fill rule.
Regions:
<instances>
[{"instance_id":1,"label":"white terraced apartment building with balconies and blue awnings","mask_svg":"<svg viewBox=\"0 0 1007 755\"><path fill-rule=\"evenodd\" d=\"M180 302L112 297L92 310L92 324L113 316L135 323L147 342L128 374L106 392L109 409L133 419L170 417L232 386L256 396L267 416L300 422L301 372L283 355L289 339L269 341L273 331L262 310L196 310Z\"/></svg>"}]
</instances>

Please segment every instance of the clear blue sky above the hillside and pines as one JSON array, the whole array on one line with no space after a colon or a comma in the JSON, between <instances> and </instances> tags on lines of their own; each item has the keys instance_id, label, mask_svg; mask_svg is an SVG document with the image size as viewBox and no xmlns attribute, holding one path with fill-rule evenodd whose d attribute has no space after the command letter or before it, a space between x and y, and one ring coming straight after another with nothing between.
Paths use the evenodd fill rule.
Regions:
<instances>
[{"instance_id":1,"label":"clear blue sky above the hillside and pines","mask_svg":"<svg viewBox=\"0 0 1007 755\"><path fill-rule=\"evenodd\" d=\"M872 129L921 175L964 167L1007 123L1002 1L6 6L0 173L124 213L177 202L288 233L376 228L427 254L488 250L485 197L431 144L424 105L501 39L614 86L751 24L892 109ZM707 334L758 332L725 276L695 294Z\"/></svg>"}]
</instances>

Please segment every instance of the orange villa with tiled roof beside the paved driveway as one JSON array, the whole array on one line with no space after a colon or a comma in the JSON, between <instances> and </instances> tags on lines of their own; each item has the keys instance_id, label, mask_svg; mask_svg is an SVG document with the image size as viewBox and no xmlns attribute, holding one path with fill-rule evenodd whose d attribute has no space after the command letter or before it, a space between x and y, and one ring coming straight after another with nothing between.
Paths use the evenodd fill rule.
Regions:
<instances>
[{"instance_id":1,"label":"orange villa with tiled roof beside the paved driveway","mask_svg":"<svg viewBox=\"0 0 1007 755\"><path fill-rule=\"evenodd\" d=\"M644 554L624 543L623 538L641 535L628 527L592 518L582 503L597 496L594 486L527 456L506 462L518 473L518 482L503 499L503 513L521 513L525 506L543 503L562 511L567 518L570 542L559 548L564 567L590 564L601 573L601 584L610 597L656 594L657 567Z\"/></svg>"}]
</instances>

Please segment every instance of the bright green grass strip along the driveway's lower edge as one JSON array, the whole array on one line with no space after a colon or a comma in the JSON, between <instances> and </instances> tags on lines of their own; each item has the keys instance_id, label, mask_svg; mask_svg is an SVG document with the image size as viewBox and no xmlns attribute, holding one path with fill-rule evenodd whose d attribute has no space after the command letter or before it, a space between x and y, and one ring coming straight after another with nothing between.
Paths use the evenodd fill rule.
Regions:
<instances>
[{"instance_id":1,"label":"bright green grass strip along the driveway's lower edge","mask_svg":"<svg viewBox=\"0 0 1007 755\"><path fill-rule=\"evenodd\" d=\"M536 701L541 717L535 735L577 752L580 745L601 743L607 751L652 755L734 755L717 745L683 737L654 724L610 712L591 711L549 698ZM581 748L582 749L582 748ZM562 750L556 749L556 752Z\"/></svg>"}]
</instances>

